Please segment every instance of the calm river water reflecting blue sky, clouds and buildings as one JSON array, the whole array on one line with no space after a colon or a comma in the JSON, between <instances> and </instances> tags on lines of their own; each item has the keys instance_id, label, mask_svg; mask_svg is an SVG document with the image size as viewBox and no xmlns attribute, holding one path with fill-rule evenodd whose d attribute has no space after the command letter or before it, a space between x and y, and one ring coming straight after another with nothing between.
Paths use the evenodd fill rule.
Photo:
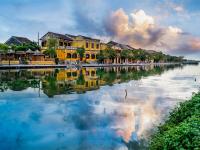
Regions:
<instances>
[{"instance_id":1,"label":"calm river water reflecting blue sky, clouds and buildings","mask_svg":"<svg viewBox=\"0 0 200 150\"><path fill-rule=\"evenodd\" d=\"M200 66L0 70L0 150L146 149Z\"/></svg>"}]
</instances>

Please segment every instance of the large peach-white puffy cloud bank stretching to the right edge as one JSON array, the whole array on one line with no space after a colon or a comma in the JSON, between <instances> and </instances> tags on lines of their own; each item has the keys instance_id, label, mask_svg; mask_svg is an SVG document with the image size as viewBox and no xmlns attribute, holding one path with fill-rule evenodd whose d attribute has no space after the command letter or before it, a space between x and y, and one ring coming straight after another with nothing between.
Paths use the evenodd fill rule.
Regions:
<instances>
[{"instance_id":1,"label":"large peach-white puffy cloud bank stretching to the right edge","mask_svg":"<svg viewBox=\"0 0 200 150\"><path fill-rule=\"evenodd\" d=\"M176 26L162 27L144 10L127 14L122 8L110 14L105 29L115 40L133 47L162 50L170 54L199 52L200 40Z\"/></svg>"}]
</instances>

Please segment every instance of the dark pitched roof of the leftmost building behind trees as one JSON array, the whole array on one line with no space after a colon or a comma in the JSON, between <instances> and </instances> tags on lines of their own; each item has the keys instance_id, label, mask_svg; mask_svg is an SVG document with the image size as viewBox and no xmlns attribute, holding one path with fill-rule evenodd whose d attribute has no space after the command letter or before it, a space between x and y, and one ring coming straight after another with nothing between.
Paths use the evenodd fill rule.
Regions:
<instances>
[{"instance_id":1,"label":"dark pitched roof of the leftmost building behind trees","mask_svg":"<svg viewBox=\"0 0 200 150\"><path fill-rule=\"evenodd\" d=\"M17 36L12 36L5 42L5 44L7 45L23 45L28 43L32 43L32 41L26 37L17 37Z\"/></svg>"}]
</instances>

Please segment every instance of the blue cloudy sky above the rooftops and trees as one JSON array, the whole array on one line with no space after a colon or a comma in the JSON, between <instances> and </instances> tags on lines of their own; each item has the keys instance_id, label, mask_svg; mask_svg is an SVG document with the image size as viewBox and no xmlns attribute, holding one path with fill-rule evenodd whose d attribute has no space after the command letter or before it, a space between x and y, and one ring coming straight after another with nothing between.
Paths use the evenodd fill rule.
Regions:
<instances>
[{"instance_id":1,"label":"blue cloudy sky above the rooftops and trees","mask_svg":"<svg viewBox=\"0 0 200 150\"><path fill-rule=\"evenodd\" d=\"M48 31L200 60L199 0L0 0L0 42Z\"/></svg>"}]
</instances>

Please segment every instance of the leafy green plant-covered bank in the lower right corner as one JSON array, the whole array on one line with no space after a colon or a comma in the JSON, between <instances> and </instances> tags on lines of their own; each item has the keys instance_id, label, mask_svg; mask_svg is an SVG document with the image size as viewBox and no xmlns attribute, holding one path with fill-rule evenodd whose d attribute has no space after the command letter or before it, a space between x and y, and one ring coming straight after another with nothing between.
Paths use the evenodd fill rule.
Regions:
<instances>
[{"instance_id":1,"label":"leafy green plant-covered bank in the lower right corner","mask_svg":"<svg viewBox=\"0 0 200 150\"><path fill-rule=\"evenodd\" d=\"M152 136L150 149L200 148L200 93L176 107Z\"/></svg>"}]
</instances>

